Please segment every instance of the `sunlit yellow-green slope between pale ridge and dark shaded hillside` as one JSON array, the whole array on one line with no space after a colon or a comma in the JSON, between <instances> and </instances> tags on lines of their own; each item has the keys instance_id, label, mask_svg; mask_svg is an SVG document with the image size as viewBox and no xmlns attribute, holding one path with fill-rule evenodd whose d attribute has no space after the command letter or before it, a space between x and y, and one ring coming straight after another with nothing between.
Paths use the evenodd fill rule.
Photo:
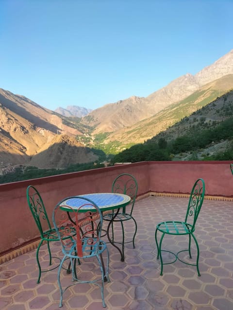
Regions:
<instances>
[{"instance_id":1,"label":"sunlit yellow-green slope between pale ridge and dark shaded hillside","mask_svg":"<svg viewBox=\"0 0 233 310\"><path fill-rule=\"evenodd\" d=\"M233 74L226 75L200 87L185 99L132 126L110 133L105 143L118 141L121 149L129 143L142 143L233 89Z\"/></svg>"}]
</instances>

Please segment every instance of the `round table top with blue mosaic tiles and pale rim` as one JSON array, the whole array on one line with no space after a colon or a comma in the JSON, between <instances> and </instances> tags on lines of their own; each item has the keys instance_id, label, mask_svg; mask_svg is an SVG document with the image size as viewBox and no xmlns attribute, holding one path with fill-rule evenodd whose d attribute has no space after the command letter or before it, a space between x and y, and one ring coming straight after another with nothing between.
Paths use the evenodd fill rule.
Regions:
<instances>
[{"instance_id":1,"label":"round table top with blue mosaic tiles and pale rim","mask_svg":"<svg viewBox=\"0 0 233 310\"><path fill-rule=\"evenodd\" d=\"M126 206L131 202L131 198L128 195L119 194L119 193L93 193L93 194L85 194L79 195L80 197L88 198L92 202L94 202L101 211L113 210L116 208L121 208ZM68 198L66 201L62 203L62 209L65 210L66 206L71 207L72 209L79 209L83 204L88 203L83 199L78 198ZM94 210L94 207L90 205L84 205L82 209L79 209L79 212L86 212ZM70 209L67 208L67 211Z\"/></svg>"}]
</instances>

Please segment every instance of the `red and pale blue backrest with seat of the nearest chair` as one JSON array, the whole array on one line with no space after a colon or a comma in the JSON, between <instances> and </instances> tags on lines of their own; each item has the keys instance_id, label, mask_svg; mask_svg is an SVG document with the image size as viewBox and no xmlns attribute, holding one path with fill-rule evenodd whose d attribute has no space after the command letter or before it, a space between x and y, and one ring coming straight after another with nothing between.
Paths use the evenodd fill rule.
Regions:
<instances>
[{"instance_id":1,"label":"red and pale blue backrest with seat of the nearest chair","mask_svg":"<svg viewBox=\"0 0 233 310\"><path fill-rule=\"evenodd\" d=\"M65 201L78 207L67 206ZM93 211L85 211L87 208ZM95 202L82 196L67 197L55 206L52 221L64 254L75 251L75 256L83 257L99 250L103 220Z\"/></svg>"}]
</instances>

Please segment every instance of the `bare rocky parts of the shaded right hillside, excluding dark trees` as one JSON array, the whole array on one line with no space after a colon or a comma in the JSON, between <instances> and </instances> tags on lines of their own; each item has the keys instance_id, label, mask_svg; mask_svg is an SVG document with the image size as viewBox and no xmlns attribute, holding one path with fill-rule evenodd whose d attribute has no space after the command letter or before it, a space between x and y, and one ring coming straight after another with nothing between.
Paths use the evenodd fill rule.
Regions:
<instances>
[{"instance_id":1,"label":"bare rocky parts of the shaded right hillside, excluding dark trees","mask_svg":"<svg viewBox=\"0 0 233 310\"><path fill-rule=\"evenodd\" d=\"M223 124L224 121L230 119L233 119L233 90L217 97L216 100L198 109L188 117L184 117L180 122L170 126L151 140L148 140L147 143L158 143L161 138L169 143L171 140L175 140L178 137L187 137L189 135L196 136L204 130L210 128L213 130L213 128L216 128L218 125ZM222 133L223 137L230 135L229 130ZM204 148L196 149L195 152L189 150L176 154L173 160L194 160L194 158L195 160L203 160L206 156L216 155L217 153L219 154L219 152L224 154L224 152L229 152L229 149L233 148L233 140L223 138L219 141L217 137L215 138L209 145L206 145Z\"/></svg>"}]
</instances>

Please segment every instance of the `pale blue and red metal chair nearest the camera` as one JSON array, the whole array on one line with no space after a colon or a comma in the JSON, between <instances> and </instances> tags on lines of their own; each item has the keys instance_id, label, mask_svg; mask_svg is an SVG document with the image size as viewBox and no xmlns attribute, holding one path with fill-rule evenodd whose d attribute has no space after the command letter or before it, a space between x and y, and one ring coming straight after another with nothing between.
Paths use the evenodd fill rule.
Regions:
<instances>
[{"instance_id":1,"label":"pale blue and red metal chair nearest the camera","mask_svg":"<svg viewBox=\"0 0 233 310\"><path fill-rule=\"evenodd\" d=\"M70 205L77 205L78 203L79 207L75 208L74 210L72 206L67 205L68 202L70 202ZM87 211L88 208L91 208L92 211ZM70 215L72 215L72 218ZM81 196L68 197L55 206L52 213L52 220L55 230L59 236L62 252L64 254L64 257L58 268L58 285L60 289L59 307L62 307L64 292L70 286L79 283L93 283L98 285L101 289L102 305L103 307L106 307L103 289L104 281L110 282L108 276L109 252L105 242L100 239L102 229L102 214L99 207L91 200ZM102 253L105 250L107 252L106 266L104 266L102 258ZM97 258L97 261L100 265L101 278L95 278L92 280L78 279L75 270L76 260L90 259L91 262L93 262L94 257ZM60 276L62 265L66 259L70 260L72 281L75 283L71 283L65 289L63 289ZM101 282L101 284L98 282Z\"/></svg>"}]
</instances>

